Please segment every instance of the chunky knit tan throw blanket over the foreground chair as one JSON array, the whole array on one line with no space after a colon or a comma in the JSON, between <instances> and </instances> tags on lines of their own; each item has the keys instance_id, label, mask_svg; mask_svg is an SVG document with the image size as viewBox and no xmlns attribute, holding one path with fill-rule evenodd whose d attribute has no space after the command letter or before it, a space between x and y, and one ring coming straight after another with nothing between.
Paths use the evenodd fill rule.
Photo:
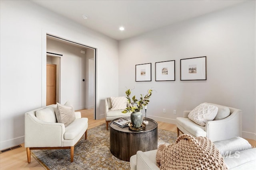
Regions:
<instances>
[{"instance_id":1,"label":"chunky knit tan throw blanket over the foreground chair","mask_svg":"<svg viewBox=\"0 0 256 170\"><path fill-rule=\"evenodd\" d=\"M175 144L160 145L156 162L161 170L228 170L210 139L187 134L180 135Z\"/></svg>"}]
</instances>

